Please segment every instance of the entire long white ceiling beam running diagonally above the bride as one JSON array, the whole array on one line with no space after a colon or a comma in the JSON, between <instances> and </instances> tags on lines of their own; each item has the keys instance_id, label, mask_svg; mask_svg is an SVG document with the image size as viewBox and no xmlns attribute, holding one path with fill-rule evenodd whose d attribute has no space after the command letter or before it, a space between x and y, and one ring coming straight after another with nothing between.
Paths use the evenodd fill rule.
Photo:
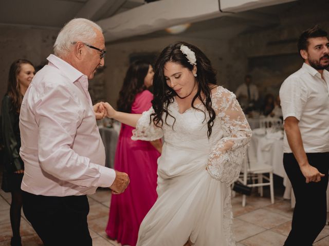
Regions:
<instances>
[{"instance_id":1,"label":"entire long white ceiling beam running diagonally above the bride","mask_svg":"<svg viewBox=\"0 0 329 246\"><path fill-rule=\"evenodd\" d=\"M179 24L195 23L293 1L296 0L162 0L101 19L97 24L103 28L105 41L111 42L121 38L148 34ZM261 20L267 25L277 24L276 19L264 20L266 17L261 13L254 17L245 13L237 17L239 16L248 19L253 18L255 22Z\"/></svg>"}]
</instances>

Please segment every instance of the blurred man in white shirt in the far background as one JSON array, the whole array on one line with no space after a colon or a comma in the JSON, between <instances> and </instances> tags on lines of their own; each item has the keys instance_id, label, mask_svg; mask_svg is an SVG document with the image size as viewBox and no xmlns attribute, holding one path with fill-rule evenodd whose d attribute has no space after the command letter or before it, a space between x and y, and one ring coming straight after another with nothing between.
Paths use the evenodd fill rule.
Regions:
<instances>
[{"instance_id":1,"label":"blurred man in white shirt in the far background","mask_svg":"<svg viewBox=\"0 0 329 246\"><path fill-rule=\"evenodd\" d=\"M236 99L241 104L241 107L246 110L252 110L259 98L258 88L253 85L251 75L245 76L245 82L237 87L235 91Z\"/></svg>"}]
</instances>

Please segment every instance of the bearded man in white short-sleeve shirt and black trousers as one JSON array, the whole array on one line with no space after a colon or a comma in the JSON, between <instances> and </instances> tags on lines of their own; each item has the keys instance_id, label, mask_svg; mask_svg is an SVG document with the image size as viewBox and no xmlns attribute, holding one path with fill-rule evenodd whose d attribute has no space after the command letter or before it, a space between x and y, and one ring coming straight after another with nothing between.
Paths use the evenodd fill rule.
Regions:
<instances>
[{"instance_id":1,"label":"bearded man in white short-sleeve shirt and black trousers","mask_svg":"<svg viewBox=\"0 0 329 246\"><path fill-rule=\"evenodd\" d=\"M326 222L329 171L329 41L315 26L298 41L304 64L280 88L283 165L296 196L285 246L311 246Z\"/></svg>"}]
</instances>

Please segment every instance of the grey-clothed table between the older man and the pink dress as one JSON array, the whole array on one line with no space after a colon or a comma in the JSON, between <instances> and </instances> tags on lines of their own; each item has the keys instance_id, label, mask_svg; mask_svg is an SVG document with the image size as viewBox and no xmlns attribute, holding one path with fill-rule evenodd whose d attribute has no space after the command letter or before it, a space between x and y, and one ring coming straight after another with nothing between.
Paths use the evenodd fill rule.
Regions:
<instances>
[{"instance_id":1,"label":"grey-clothed table between the older man and the pink dress","mask_svg":"<svg viewBox=\"0 0 329 246\"><path fill-rule=\"evenodd\" d=\"M108 128L103 126L99 126L98 129L105 148L105 167L114 168L114 156L119 135L118 130L114 127Z\"/></svg>"}]
</instances>

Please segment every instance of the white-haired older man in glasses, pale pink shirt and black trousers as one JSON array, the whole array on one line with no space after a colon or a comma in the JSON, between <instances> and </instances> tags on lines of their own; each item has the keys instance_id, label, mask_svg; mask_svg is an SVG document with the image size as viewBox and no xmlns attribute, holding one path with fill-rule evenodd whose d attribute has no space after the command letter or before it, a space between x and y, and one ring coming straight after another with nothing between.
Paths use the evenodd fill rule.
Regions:
<instances>
[{"instance_id":1,"label":"white-haired older man in glasses, pale pink shirt and black trousers","mask_svg":"<svg viewBox=\"0 0 329 246\"><path fill-rule=\"evenodd\" d=\"M105 112L88 92L88 79L104 66L104 48L98 25L71 20L22 102L23 211L46 246L92 245L86 195L97 187L119 194L129 184L127 174L104 167L94 110L96 117Z\"/></svg>"}]
</instances>

